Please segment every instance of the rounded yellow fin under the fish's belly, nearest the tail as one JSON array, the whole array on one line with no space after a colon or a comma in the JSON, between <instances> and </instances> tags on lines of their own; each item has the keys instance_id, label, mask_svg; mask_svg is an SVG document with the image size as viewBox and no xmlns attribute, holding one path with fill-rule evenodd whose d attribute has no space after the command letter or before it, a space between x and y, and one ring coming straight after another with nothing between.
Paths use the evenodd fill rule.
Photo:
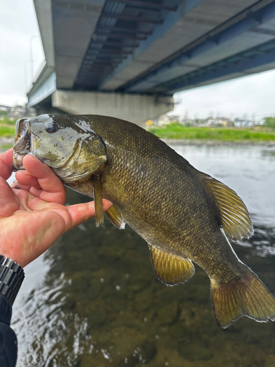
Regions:
<instances>
[{"instance_id":1,"label":"rounded yellow fin under the fish's belly, nearest the tail","mask_svg":"<svg viewBox=\"0 0 275 367\"><path fill-rule=\"evenodd\" d=\"M184 283L195 273L194 265L188 258L164 252L148 244L155 275L165 284Z\"/></svg>"}]
</instances>

